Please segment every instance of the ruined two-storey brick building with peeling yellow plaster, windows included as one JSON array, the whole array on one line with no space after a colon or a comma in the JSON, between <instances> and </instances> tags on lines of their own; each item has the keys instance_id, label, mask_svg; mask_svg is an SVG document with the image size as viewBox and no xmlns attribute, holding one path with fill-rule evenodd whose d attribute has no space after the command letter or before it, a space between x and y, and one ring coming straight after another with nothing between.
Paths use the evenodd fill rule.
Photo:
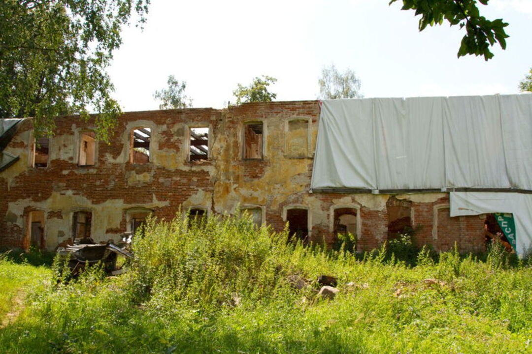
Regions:
<instances>
[{"instance_id":1,"label":"ruined two-storey brick building with peeling yellow plaster, windows included","mask_svg":"<svg viewBox=\"0 0 532 354\"><path fill-rule=\"evenodd\" d=\"M109 144L95 140L94 122L72 117L36 143L23 119L4 149L18 160L0 166L0 247L118 239L149 213L247 210L257 224L288 221L328 244L352 232L359 250L405 227L440 251L484 249L486 215L450 217L448 193L311 191L319 119L318 101L129 112Z\"/></svg>"}]
</instances>

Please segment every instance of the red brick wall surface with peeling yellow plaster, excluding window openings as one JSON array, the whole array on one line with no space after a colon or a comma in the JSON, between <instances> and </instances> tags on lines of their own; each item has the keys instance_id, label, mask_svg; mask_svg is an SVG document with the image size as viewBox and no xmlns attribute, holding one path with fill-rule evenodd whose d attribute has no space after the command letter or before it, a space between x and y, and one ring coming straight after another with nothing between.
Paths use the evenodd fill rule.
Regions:
<instances>
[{"instance_id":1,"label":"red brick wall surface with peeling yellow plaster, excluding window openings","mask_svg":"<svg viewBox=\"0 0 532 354\"><path fill-rule=\"evenodd\" d=\"M279 231L285 226L282 218L284 209L290 205L306 206L312 220L312 238L316 241L325 239L328 244L334 241L330 232L333 216L329 212L339 199L348 198L348 204L358 208L360 213L359 250L380 246L387 239L386 200L384 208L379 209L358 202L360 194L310 193L312 153L306 158L287 157L288 133L284 129L287 129L288 119L294 117L310 119L312 141L309 142L309 150L313 151L319 118L316 101L250 103L223 110L205 108L126 113L114 128L110 144L98 143L97 163L93 167L79 167L77 146L71 145L75 144L73 127L91 129L94 122L82 122L74 117L58 118L47 168L28 167L15 175L9 171L0 174L0 194L3 196L0 199L0 247L24 246L24 209L46 209L43 205L55 205L54 200L63 197L82 201L76 207L102 210L99 216L102 219L106 217L106 203L120 201L116 206L120 209L118 219L111 220L114 226L103 225L99 231L102 235L97 235L103 240L126 230L129 208L145 206L154 210L157 218L171 219L180 208L184 208L183 205L223 213L235 212L237 203L242 203L263 206L266 222ZM264 159L243 160L242 125L258 120L264 122ZM191 124L211 127L209 161L186 162L188 151L184 149L188 125ZM130 130L138 126L152 127L152 135L156 136L152 136L151 149L156 149L156 154L168 153L168 156L161 154L159 158L164 163L150 161L134 165L128 162ZM7 151L11 149L16 154L30 151L31 129L30 120L23 122ZM21 159L17 164L19 167L12 166L11 171L28 165L28 158ZM148 176L148 180L138 179L139 176ZM195 205L199 197L194 196L198 193L205 195L201 205ZM483 220L478 217L450 218L448 209L437 211L437 237L434 237L434 206L442 203L448 203L448 196L431 202L412 202L413 226L418 228L418 243L431 244L438 250L446 250L454 242L461 251L483 249ZM55 207L46 209L45 223L61 225L57 230L45 227L48 237L65 235L57 236L57 243L70 236L72 208L66 205L59 210ZM48 247L54 246L48 244Z\"/></svg>"}]
</instances>

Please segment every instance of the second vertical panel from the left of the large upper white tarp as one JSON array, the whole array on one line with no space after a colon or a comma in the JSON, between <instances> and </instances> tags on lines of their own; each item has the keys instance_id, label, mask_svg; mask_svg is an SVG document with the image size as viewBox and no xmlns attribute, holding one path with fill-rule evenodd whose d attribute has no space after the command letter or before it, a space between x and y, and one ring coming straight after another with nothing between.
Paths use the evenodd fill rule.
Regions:
<instances>
[{"instance_id":1,"label":"second vertical panel from the left of the large upper white tarp","mask_svg":"<svg viewBox=\"0 0 532 354\"><path fill-rule=\"evenodd\" d=\"M441 98L373 99L377 188L444 184Z\"/></svg>"}]
</instances>

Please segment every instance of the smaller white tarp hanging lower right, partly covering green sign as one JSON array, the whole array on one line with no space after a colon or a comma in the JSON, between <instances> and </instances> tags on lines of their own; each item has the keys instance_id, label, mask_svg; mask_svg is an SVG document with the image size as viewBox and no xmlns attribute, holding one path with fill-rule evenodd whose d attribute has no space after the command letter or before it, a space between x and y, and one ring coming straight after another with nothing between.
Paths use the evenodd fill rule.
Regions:
<instances>
[{"instance_id":1,"label":"smaller white tarp hanging lower right, partly covering green sign","mask_svg":"<svg viewBox=\"0 0 532 354\"><path fill-rule=\"evenodd\" d=\"M495 192L451 192L451 217L484 213L512 213L516 223L516 252L529 251L532 244L532 194Z\"/></svg>"}]
</instances>

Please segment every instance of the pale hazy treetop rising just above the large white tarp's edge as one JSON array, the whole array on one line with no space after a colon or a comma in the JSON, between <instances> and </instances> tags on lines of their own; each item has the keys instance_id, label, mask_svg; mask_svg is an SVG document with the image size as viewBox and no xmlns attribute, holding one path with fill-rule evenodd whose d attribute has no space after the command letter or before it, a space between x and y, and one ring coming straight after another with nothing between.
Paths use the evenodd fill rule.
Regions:
<instances>
[{"instance_id":1,"label":"pale hazy treetop rising just above the large white tarp's edge","mask_svg":"<svg viewBox=\"0 0 532 354\"><path fill-rule=\"evenodd\" d=\"M320 98L334 100L338 98L362 98L360 93L361 81L355 72L347 68L340 73L334 64L321 69Z\"/></svg>"}]
</instances>

